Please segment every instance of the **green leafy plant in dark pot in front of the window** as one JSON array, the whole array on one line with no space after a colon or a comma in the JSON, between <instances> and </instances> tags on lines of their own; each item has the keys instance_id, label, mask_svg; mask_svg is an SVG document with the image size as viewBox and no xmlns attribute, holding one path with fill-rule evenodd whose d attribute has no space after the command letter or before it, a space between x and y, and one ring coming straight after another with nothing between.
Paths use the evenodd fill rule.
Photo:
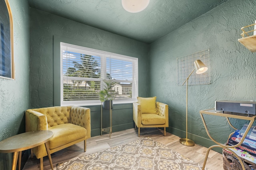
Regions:
<instances>
[{"instance_id":1,"label":"green leafy plant in dark pot in front of the window","mask_svg":"<svg viewBox=\"0 0 256 170\"><path fill-rule=\"evenodd\" d=\"M112 85L111 83L113 82L112 79L104 79L103 82L104 84L103 90L100 90L98 92L100 102L102 102L102 107L103 109L113 109L113 99L116 98L116 91L112 90Z\"/></svg>"}]
</instances>

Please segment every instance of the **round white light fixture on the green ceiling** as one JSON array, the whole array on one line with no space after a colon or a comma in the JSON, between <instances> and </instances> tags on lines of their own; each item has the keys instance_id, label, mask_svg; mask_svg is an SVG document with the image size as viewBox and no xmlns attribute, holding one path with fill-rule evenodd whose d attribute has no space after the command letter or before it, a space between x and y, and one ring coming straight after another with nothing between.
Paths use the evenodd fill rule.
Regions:
<instances>
[{"instance_id":1,"label":"round white light fixture on the green ceiling","mask_svg":"<svg viewBox=\"0 0 256 170\"><path fill-rule=\"evenodd\" d=\"M123 8L131 13L141 12L147 8L150 0L122 0Z\"/></svg>"}]
</instances>

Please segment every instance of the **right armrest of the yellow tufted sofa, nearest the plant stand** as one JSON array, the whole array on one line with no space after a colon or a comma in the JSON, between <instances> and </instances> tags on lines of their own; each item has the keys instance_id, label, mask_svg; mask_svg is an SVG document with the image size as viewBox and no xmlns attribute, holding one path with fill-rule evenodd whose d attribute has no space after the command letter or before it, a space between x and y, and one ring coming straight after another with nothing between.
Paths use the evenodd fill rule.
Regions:
<instances>
[{"instance_id":1,"label":"right armrest of the yellow tufted sofa, nearest the plant stand","mask_svg":"<svg viewBox=\"0 0 256 170\"><path fill-rule=\"evenodd\" d=\"M71 123L87 130L86 139L91 137L91 110L87 107L71 107Z\"/></svg>"}]
</instances>

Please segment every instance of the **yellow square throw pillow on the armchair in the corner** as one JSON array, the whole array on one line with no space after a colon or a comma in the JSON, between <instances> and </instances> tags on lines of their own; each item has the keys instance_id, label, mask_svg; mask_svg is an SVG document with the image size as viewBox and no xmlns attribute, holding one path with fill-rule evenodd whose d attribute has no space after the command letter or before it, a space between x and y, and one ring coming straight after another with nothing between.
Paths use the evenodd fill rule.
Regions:
<instances>
[{"instance_id":1,"label":"yellow square throw pillow on the armchair in the corner","mask_svg":"<svg viewBox=\"0 0 256 170\"><path fill-rule=\"evenodd\" d=\"M141 113L156 113L156 96L152 98L137 97Z\"/></svg>"}]
</instances>

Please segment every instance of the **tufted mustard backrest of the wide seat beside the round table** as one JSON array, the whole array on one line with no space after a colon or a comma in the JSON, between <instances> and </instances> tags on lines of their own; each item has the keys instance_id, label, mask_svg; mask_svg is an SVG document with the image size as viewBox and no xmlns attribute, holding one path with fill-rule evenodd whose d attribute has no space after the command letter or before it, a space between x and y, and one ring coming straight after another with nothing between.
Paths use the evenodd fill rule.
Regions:
<instances>
[{"instance_id":1,"label":"tufted mustard backrest of the wide seat beside the round table","mask_svg":"<svg viewBox=\"0 0 256 170\"><path fill-rule=\"evenodd\" d=\"M71 106L55 106L32 109L46 115L48 127L70 123Z\"/></svg>"}]
</instances>

